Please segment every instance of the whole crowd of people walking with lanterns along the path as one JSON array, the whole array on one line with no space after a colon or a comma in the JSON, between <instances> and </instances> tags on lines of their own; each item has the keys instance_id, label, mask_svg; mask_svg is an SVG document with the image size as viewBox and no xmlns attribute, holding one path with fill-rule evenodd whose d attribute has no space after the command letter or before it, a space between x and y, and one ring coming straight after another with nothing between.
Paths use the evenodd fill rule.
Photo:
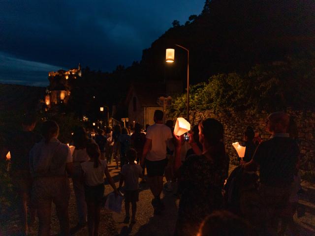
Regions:
<instances>
[{"instance_id":1,"label":"whole crowd of people walking with lanterns along the path","mask_svg":"<svg viewBox=\"0 0 315 236\"><path fill-rule=\"evenodd\" d=\"M97 235L106 177L115 196L124 193L125 223L130 221L130 205L130 223L136 222L142 178L153 195L154 215L161 215L165 209L163 188L180 199L176 236L273 236L284 235L288 226L298 235L293 214L300 189L299 148L288 133L291 123L287 114L277 112L267 118L266 130L271 137L266 141L262 141L258 130L246 127L242 143L245 155L230 177L220 121L201 120L192 127L186 141L184 135L173 132L174 122L164 124L163 118L163 112L156 110L155 123L147 126L146 132L136 123L131 135L120 125L113 130L100 129L95 136L76 127L71 143L75 149L71 153L68 145L58 140L59 126L55 121L45 121L38 135L33 132L35 119L26 117L23 130L7 139L12 181L21 202L22 234L28 234L27 216L31 216L32 225L37 211L38 235L48 236L54 203L62 235L74 234L86 225L90 236ZM120 169L118 188L108 172L108 163L113 160L115 168ZM78 224L72 229L68 216L69 177L78 212Z\"/></svg>"}]
</instances>

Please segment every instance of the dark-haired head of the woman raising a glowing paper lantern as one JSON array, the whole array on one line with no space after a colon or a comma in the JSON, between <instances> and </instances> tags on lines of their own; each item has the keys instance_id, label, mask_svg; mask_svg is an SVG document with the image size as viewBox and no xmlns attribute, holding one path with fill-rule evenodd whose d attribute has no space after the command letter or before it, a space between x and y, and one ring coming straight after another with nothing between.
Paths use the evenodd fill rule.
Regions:
<instances>
[{"instance_id":1,"label":"dark-haired head of the woman raising a glowing paper lantern","mask_svg":"<svg viewBox=\"0 0 315 236\"><path fill-rule=\"evenodd\" d=\"M224 129L220 121L207 118L199 122L199 142L207 146L216 145L223 140Z\"/></svg>"}]
</instances>

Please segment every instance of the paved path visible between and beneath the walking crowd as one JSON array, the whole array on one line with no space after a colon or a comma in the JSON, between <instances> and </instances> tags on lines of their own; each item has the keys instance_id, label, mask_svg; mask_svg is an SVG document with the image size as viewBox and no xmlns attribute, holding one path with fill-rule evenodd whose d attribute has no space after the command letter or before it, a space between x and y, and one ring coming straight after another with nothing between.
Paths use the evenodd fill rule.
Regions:
<instances>
[{"instance_id":1,"label":"paved path visible between and beneath the walking crowd","mask_svg":"<svg viewBox=\"0 0 315 236\"><path fill-rule=\"evenodd\" d=\"M116 185L119 184L119 170L114 169L114 165L109 165L109 171L113 177ZM230 166L232 171L235 166ZM164 179L165 181L165 179ZM315 184L303 181L302 187L304 193L300 195L300 209L304 209L305 214L302 217L297 218L297 214L294 215L294 219L299 225L301 236L315 236ZM69 216L71 227L77 223L77 211L75 206L75 198L73 188L71 184L71 197L69 202ZM105 185L105 194L109 194L112 191L111 187ZM179 200L173 193L163 192L162 201L165 204L165 211L159 215L153 215L153 208L151 206L151 200L153 198L150 189L146 184L141 185L141 192L139 196L139 202L137 204L137 214L135 224L124 224L125 207L123 204L122 213L112 213L106 209L101 210L101 223L100 223L100 236L171 236L175 228L177 220L177 211ZM53 207L54 209L55 207ZM131 207L130 207L131 208ZM0 222L0 236L14 235L17 230L18 219L17 213L12 212L8 215L6 222ZM56 217L56 213L53 210L52 214L52 234L57 234L59 231L59 223ZM35 227L30 234L31 236L37 235L38 221L36 221ZM75 236L88 235L87 227L78 231ZM287 235L290 234L287 232Z\"/></svg>"}]
</instances>

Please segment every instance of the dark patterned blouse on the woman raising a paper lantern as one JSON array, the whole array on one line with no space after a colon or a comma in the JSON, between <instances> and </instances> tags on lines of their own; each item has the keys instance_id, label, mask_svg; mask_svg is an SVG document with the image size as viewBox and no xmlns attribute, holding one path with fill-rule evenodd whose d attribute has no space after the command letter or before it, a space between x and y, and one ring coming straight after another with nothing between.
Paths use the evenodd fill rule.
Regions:
<instances>
[{"instance_id":1,"label":"dark patterned blouse on the woman raising a paper lantern","mask_svg":"<svg viewBox=\"0 0 315 236\"><path fill-rule=\"evenodd\" d=\"M228 170L228 158L224 158L221 167L205 155L190 155L184 162L175 235L196 235L202 220L213 210L221 209L222 188Z\"/></svg>"}]
</instances>

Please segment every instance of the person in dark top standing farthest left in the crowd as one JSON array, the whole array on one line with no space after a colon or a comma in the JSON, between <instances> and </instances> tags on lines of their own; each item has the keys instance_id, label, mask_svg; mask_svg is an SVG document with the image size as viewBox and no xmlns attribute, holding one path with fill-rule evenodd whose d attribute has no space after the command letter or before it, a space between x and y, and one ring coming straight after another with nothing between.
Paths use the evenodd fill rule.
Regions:
<instances>
[{"instance_id":1,"label":"person in dark top standing farthest left in the crowd","mask_svg":"<svg viewBox=\"0 0 315 236\"><path fill-rule=\"evenodd\" d=\"M29 152L41 136L33 132L36 118L30 114L24 116L22 130L13 132L5 138L5 146L11 159L10 176L14 189L18 193L21 233L28 234L29 226L35 221L35 209L30 202L32 192L32 176L30 174ZM8 157L9 155L7 155ZM30 224L27 221L28 206L30 207Z\"/></svg>"}]
</instances>

